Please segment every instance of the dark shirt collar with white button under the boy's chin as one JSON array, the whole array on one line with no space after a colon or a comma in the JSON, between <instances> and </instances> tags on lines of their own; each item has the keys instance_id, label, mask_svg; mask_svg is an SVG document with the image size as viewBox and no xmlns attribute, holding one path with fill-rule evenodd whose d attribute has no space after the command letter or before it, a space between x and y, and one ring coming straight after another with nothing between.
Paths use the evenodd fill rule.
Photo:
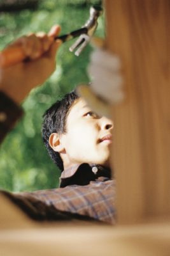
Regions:
<instances>
[{"instance_id":1,"label":"dark shirt collar with white button under the boy's chin","mask_svg":"<svg viewBox=\"0 0 170 256\"><path fill-rule=\"evenodd\" d=\"M64 170L60 176L60 188L69 185L85 186L99 177L111 179L111 170L101 164L75 164Z\"/></svg>"}]
</instances>

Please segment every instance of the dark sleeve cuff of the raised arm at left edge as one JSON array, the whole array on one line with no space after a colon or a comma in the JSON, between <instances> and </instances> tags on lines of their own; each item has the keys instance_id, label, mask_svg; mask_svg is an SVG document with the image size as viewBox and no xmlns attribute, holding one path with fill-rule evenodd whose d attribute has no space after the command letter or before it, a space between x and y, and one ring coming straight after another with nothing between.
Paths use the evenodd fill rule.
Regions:
<instances>
[{"instance_id":1,"label":"dark sleeve cuff of the raised arm at left edge","mask_svg":"<svg viewBox=\"0 0 170 256\"><path fill-rule=\"evenodd\" d=\"M8 95L0 91L0 143L24 111Z\"/></svg>"}]
</instances>

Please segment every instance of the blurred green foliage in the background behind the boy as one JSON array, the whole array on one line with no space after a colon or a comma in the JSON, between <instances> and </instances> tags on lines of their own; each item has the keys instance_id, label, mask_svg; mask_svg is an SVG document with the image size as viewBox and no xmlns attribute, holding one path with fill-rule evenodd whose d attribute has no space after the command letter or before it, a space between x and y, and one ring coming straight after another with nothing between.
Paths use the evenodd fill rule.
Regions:
<instances>
[{"instance_id":1,"label":"blurred green foliage in the background behind the boy","mask_svg":"<svg viewBox=\"0 0 170 256\"><path fill-rule=\"evenodd\" d=\"M0 0L0 50L19 36L48 30L60 24L61 35L81 28L89 19L91 0ZM99 18L96 36L104 38L104 15ZM77 84L88 83L87 66L92 46L80 57L64 43L57 55L57 70L45 84L32 90L22 107L25 115L0 147L0 189L34 191L59 186L60 171L52 163L41 140L42 116L53 102ZM23 84L24 86L24 84Z\"/></svg>"}]
</instances>

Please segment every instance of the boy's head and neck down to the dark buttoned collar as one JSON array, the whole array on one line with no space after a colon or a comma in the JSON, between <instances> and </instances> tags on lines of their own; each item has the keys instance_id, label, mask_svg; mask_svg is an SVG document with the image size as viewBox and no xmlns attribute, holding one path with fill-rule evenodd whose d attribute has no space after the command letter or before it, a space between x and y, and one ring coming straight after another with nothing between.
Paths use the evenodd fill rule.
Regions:
<instances>
[{"instance_id":1,"label":"boy's head and neck down to the dark buttoned collar","mask_svg":"<svg viewBox=\"0 0 170 256\"><path fill-rule=\"evenodd\" d=\"M112 129L113 122L92 111L76 92L68 93L46 111L43 141L62 172L60 187L111 177Z\"/></svg>"}]
</instances>

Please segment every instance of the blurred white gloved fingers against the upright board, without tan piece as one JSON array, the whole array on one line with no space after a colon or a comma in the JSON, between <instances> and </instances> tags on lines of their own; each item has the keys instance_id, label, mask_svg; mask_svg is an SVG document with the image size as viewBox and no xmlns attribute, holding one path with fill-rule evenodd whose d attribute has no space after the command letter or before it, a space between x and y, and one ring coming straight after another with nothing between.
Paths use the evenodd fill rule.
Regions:
<instances>
[{"instance_id":1,"label":"blurred white gloved fingers against the upright board, without tan piece","mask_svg":"<svg viewBox=\"0 0 170 256\"><path fill-rule=\"evenodd\" d=\"M94 93L110 104L124 99L121 63L117 55L106 49L96 49L92 52L88 71L92 77L91 88Z\"/></svg>"}]
</instances>

